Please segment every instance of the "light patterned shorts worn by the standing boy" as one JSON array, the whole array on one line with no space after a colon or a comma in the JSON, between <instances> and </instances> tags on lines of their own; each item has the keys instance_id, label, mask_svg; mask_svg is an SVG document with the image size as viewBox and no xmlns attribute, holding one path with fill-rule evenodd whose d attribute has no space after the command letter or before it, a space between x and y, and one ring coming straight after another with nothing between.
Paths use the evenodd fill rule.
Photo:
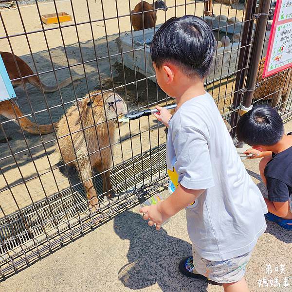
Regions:
<instances>
[{"instance_id":1,"label":"light patterned shorts worn by the standing boy","mask_svg":"<svg viewBox=\"0 0 292 292\"><path fill-rule=\"evenodd\" d=\"M217 283L234 283L244 276L251 255L252 251L231 259L212 261L202 258L193 247L194 270Z\"/></svg>"}]
</instances>

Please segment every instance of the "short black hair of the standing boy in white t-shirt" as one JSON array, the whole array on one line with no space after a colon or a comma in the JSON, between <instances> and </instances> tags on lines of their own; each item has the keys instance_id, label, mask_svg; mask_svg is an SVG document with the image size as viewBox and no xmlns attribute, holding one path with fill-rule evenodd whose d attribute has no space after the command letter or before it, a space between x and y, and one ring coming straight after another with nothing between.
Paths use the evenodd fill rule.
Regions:
<instances>
[{"instance_id":1,"label":"short black hair of the standing boy in white t-shirt","mask_svg":"<svg viewBox=\"0 0 292 292\"><path fill-rule=\"evenodd\" d=\"M209 72L215 52L215 37L200 17L186 15L168 19L154 35L150 54L160 69L167 62L181 66L189 77L203 79Z\"/></svg>"}]
</instances>

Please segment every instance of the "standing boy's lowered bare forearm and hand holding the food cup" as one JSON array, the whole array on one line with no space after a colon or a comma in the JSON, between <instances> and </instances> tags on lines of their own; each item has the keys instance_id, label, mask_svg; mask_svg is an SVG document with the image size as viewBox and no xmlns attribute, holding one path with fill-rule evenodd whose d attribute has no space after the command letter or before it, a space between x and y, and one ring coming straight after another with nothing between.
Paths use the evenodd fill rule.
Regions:
<instances>
[{"instance_id":1,"label":"standing boy's lowered bare forearm and hand holding the food cup","mask_svg":"<svg viewBox=\"0 0 292 292\"><path fill-rule=\"evenodd\" d=\"M156 229L159 230L164 221L194 202L203 192L204 190L191 190L179 184L166 200L153 206L143 207L140 213L145 213L143 219L149 219L149 226L156 223Z\"/></svg>"}]
</instances>

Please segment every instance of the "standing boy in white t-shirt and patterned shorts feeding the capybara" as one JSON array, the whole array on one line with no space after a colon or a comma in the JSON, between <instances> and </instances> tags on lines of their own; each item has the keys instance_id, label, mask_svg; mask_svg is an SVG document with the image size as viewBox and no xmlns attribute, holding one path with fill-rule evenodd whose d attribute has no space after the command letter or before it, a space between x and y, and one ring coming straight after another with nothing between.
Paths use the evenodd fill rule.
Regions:
<instances>
[{"instance_id":1,"label":"standing boy in white t-shirt and patterned shorts feeding the capybara","mask_svg":"<svg viewBox=\"0 0 292 292\"><path fill-rule=\"evenodd\" d=\"M185 208L193 256L181 261L181 272L222 284L226 292L246 292L245 266L266 229L267 206L204 90L215 43L209 26L195 16L170 18L153 37L157 82L177 102L173 116L160 107L155 114L169 127L167 170L176 190L140 212L159 230Z\"/></svg>"}]
</instances>

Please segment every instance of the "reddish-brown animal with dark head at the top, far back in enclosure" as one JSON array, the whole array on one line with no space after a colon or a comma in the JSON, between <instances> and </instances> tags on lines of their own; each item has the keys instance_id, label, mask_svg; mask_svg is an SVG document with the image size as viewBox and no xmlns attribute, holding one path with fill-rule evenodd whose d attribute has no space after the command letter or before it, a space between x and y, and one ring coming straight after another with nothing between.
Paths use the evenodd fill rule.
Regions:
<instances>
[{"instance_id":1,"label":"reddish-brown animal with dark head at the top, far back in enclosure","mask_svg":"<svg viewBox=\"0 0 292 292\"><path fill-rule=\"evenodd\" d=\"M143 6L142 6L143 5ZM143 8L143 10L142 10ZM157 0L153 4L150 4L146 1L140 1L131 11L131 20L134 31L142 30L143 28L151 28L155 26L156 23L156 14L157 9L163 8L164 11L167 11L167 7L162 0ZM143 11L143 16L142 16ZM143 26L144 18L144 26Z\"/></svg>"}]
</instances>

